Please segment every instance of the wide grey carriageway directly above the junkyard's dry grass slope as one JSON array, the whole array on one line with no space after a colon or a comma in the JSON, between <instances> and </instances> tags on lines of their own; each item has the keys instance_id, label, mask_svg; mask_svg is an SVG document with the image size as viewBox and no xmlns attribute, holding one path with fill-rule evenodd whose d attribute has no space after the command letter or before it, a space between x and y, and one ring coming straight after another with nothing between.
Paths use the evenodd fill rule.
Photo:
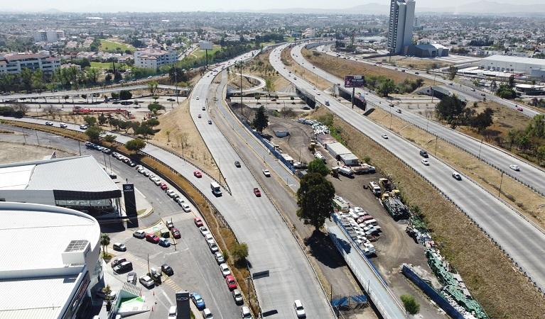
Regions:
<instances>
[{"instance_id":1,"label":"wide grey carriageway directly above the junkyard's dry grass slope","mask_svg":"<svg viewBox=\"0 0 545 319\"><path fill-rule=\"evenodd\" d=\"M293 77L289 77L288 69L284 68L280 58L281 50L284 50L285 47L286 45L277 47L269 57L269 62L279 74L298 88L316 93L314 98L318 103L325 105L325 100L330 101L330 106L325 107L374 142L392 152L407 166L414 169L417 174L436 186L438 191L450 198L485 233L489 234L502 247L502 250L505 250L508 256L517 262L518 267L529 274L537 286L545 288L545 264L542 262L542 257L545 255L544 233L524 219L514 208L506 206L468 177L464 176L461 181L453 179L453 169L441 160L430 157L430 165L423 165L419 156L419 147L416 145L393 132L389 132L365 116L360 116L325 92L322 91L318 95L318 92L313 90L313 84L301 78L294 80ZM389 133L388 140L382 138L381 135L384 133Z\"/></svg>"}]
</instances>

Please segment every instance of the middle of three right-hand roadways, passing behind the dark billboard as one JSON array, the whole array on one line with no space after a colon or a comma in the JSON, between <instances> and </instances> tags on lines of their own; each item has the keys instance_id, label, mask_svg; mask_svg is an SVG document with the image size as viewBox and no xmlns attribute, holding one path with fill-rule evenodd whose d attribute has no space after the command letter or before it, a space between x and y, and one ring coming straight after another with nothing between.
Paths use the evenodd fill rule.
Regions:
<instances>
[{"instance_id":1,"label":"middle of three right-hand roadways, passing behind the dark billboard","mask_svg":"<svg viewBox=\"0 0 545 319\"><path fill-rule=\"evenodd\" d=\"M318 74L319 77L326 79L328 82L344 83L342 79L339 79L333 74L325 72L323 69L315 67L311 64L311 62L308 62L308 60L306 60L301 54L301 48L301 45L297 45L296 47L293 47L291 52L291 57L293 57L293 60L298 62L301 67L304 67L309 72ZM460 149L465 150L471 155L475 155L475 157L480 155L479 158L482 159L482 161L491 164L492 167L499 169L500 171L504 172L504 174L507 174L517 181L520 181L522 184L531 187L531 189L539 192L539 194L545 195L545 171L534 166L534 164L526 162L524 159L520 159L519 157L515 157L509 152L501 150L499 147L495 147L475 138L471 138L468 135L460 133L457 130L447 128L445 125L441 125L435 121L429 121L427 118L411 112L410 110L404 109L403 113L396 113L396 107L390 106L392 105L392 101L383 99L372 92L367 91L367 89L355 89L355 92L356 94L365 95L367 103L372 104L372 106L382 108L383 111L391 113L393 116L416 125L422 130L427 130L429 133L460 147ZM520 167L520 171L517 172L510 169L509 165L512 164Z\"/></svg>"}]
</instances>

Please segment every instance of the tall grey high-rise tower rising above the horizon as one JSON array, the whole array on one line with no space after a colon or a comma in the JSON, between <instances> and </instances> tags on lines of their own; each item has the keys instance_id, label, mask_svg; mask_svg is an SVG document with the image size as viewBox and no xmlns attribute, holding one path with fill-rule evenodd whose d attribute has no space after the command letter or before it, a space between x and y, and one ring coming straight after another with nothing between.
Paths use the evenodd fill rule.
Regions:
<instances>
[{"instance_id":1,"label":"tall grey high-rise tower rising above the horizon","mask_svg":"<svg viewBox=\"0 0 545 319\"><path fill-rule=\"evenodd\" d=\"M390 54L405 54L413 44L414 0L391 0L387 49Z\"/></svg>"}]
</instances>

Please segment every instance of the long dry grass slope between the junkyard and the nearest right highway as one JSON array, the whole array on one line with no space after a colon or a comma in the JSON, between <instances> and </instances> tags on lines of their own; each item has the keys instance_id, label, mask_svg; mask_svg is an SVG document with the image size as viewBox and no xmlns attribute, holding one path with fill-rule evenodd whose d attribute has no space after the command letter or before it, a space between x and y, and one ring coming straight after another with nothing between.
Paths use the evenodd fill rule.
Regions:
<instances>
[{"instance_id":1,"label":"long dry grass slope between the junkyard and the nearest right highway","mask_svg":"<svg viewBox=\"0 0 545 319\"><path fill-rule=\"evenodd\" d=\"M327 113L319 108L314 117ZM411 205L421 208L441 253L458 269L490 318L543 318L541 293L514 269L509 259L460 211L403 162L367 136L335 117L347 147L375 166L404 192ZM387 163L387 164L386 164Z\"/></svg>"}]
</instances>

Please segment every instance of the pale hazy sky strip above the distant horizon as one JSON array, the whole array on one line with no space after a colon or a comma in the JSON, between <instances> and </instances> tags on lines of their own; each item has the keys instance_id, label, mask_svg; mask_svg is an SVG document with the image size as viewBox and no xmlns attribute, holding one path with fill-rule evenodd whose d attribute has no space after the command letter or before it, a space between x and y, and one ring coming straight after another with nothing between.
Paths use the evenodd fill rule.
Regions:
<instances>
[{"instance_id":1,"label":"pale hazy sky strip above the distant horizon","mask_svg":"<svg viewBox=\"0 0 545 319\"><path fill-rule=\"evenodd\" d=\"M479 0L416 0L416 6L441 8L460 6ZM544 4L545 0L488 0L510 4ZM43 11L58 9L74 12L108 12L108 11L247 11L262 9L286 8L350 8L360 4L389 4L389 0L0 0L0 10L8 11Z\"/></svg>"}]
</instances>

